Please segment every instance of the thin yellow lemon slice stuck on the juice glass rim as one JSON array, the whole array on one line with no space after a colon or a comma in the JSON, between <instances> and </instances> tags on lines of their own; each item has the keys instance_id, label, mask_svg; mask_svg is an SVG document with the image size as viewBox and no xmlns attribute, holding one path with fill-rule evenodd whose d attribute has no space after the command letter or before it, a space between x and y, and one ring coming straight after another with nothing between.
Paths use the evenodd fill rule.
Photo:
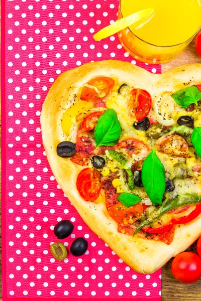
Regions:
<instances>
[{"instance_id":1,"label":"thin yellow lemon slice stuck on the juice glass rim","mask_svg":"<svg viewBox=\"0 0 201 301\"><path fill-rule=\"evenodd\" d=\"M115 23L101 29L99 32L97 32L93 39L95 41L99 41L105 38L108 38L119 31L123 30L124 28L130 26L131 24L139 21L140 19L143 19L144 17L153 14L154 8L145 9L142 11L139 11L137 13L134 13L128 17L122 18L120 20L117 20Z\"/></svg>"}]
</instances>

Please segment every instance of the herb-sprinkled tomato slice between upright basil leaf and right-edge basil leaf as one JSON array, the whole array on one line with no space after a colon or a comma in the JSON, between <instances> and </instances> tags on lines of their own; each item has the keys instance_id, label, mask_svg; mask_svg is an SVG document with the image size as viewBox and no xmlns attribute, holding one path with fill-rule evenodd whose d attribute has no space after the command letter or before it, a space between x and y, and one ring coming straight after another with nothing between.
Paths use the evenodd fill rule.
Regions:
<instances>
[{"instance_id":1,"label":"herb-sprinkled tomato slice between upright basil leaf and right-edge basil leaf","mask_svg":"<svg viewBox=\"0 0 201 301\"><path fill-rule=\"evenodd\" d=\"M178 157L188 157L188 144L185 139L177 134L161 137L156 146L160 152Z\"/></svg>"}]
</instances>

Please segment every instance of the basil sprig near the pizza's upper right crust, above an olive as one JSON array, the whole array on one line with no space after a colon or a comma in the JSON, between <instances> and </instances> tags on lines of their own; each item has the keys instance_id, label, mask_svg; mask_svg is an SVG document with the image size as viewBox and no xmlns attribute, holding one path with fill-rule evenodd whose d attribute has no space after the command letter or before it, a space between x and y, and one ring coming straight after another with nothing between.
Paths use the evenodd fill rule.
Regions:
<instances>
[{"instance_id":1,"label":"basil sprig near the pizza's upper right crust, above an olive","mask_svg":"<svg viewBox=\"0 0 201 301\"><path fill-rule=\"evenodd\" d=\"M201 99L201 92L197 87L192 86L173 93L171 97L180 105L180 107L186 108L191 103L197 105L197 101Z\"/></svg>"}]
</instances>

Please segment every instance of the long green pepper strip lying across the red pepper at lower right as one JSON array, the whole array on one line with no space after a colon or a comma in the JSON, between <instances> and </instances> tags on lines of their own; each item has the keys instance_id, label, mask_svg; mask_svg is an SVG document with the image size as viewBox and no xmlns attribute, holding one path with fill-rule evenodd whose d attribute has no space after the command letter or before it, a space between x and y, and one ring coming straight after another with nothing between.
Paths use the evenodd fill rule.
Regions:
<instances>
[{"instance_id":1,"label":"long green pepper strip lying across the red pepper at lower right","mask_svg":"<svg viewBox=\"0 0 201 301\"><path fill-rule=\"evenodd\" d=\"M151 216L145 219L140 225L136 228L134 235L139 232L144 226L147 226L156 220L158 220L162 215L171 211L172 209L183 207L186 205L198 204L201 202L201 195L198 196L197 193L193 194L183 194L178 196L173 200L166 199L160 208L156 209L151 213Z\"/></svg>"}]
</instances>

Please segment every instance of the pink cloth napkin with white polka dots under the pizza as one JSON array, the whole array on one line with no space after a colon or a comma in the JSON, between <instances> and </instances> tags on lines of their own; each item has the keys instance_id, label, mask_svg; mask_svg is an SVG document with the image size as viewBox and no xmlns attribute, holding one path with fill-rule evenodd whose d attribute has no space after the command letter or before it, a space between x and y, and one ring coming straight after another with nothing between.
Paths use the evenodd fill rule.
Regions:
<instances>
[{"instance_id":1,"label":"pink cloth napkin with white polka dots under the pizza","mask_svg":"<svg viewBox=\"0 0 201 301\"><path fill-rule=\"evenodd\" d=\"M40 112L60 73L90 61L116 59L150 72L117 35L92 35L117 18L118 0L2 1L3 300L160 300L161 270L141 275L82 221L56 183L41 139ZM64 239L85 237L88 250L52 258L54 225L74 224Z\"/></svg>"}]
</instances>

